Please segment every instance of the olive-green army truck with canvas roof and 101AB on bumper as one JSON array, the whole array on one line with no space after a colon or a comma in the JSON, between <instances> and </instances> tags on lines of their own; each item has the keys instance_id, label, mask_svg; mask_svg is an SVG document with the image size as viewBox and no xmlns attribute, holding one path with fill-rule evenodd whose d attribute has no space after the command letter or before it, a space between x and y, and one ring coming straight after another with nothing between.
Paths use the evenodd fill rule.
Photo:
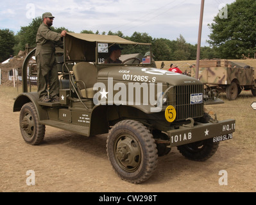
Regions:
<instances>
[{"instance_id":1,"label":"olive-green army truck with canvas roof and 101AB on bumper","mask_svg":"<svg viewBox=\"0 0 256 205\"><path fill-rule=\"evenodd\" d=\"M151 44L118 36L67 33L62 56L57 56L59 102L38 102L37 92L28 92L26 76L35 66L35 50L28 54L22 67L23 93L13 105L13 111L20 111L26 143L40 144L46 126L83 136L106 133L108 159L117 175L142 183L157 168L158 156L171 147L178 147L185 158L205 161L219 142L232 139L234 119L218 121L205 113L203 83L153 68L152 58L108 64L116 44L128 56L151 53Z\"/></svg>"}]
</instances>

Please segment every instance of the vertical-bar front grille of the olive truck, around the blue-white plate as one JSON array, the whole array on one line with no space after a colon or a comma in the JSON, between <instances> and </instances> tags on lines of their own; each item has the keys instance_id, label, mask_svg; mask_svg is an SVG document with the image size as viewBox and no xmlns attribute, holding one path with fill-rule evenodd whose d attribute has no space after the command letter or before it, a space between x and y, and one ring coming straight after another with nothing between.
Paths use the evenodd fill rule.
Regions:
<instances>
[{"instance_id":1,"label":"vertical-bar front grille of the olive truck, around the blue-white plate","mask_svg":"<svg viewBox=\"0 0 256 205\"><path fill-rule=\"evenodd\" d=\"M176 120L203 116L203 101L198 104L191 104L191 94L203 94L203 85L175 86L175 93Z\"/></svg>"}]
</instances>

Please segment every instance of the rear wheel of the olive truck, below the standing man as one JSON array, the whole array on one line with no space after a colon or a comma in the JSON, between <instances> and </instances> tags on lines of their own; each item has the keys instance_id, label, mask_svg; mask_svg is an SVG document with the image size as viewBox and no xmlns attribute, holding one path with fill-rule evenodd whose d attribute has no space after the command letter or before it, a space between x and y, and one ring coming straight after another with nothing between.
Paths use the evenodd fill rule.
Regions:
<instances>
[{"instance_id":1,"label":"rear wheel of the olive truck, below the standing man","mask_svg":"<svg viewBox=\"0 0 256 205\"><path fill-rule=\"evenodd\" d=\"M37 110L32 102L24 104L19 118L21 135L26 143L38 145L44 140L46 126L38 123Z\"/></svg>"}]
</instances>

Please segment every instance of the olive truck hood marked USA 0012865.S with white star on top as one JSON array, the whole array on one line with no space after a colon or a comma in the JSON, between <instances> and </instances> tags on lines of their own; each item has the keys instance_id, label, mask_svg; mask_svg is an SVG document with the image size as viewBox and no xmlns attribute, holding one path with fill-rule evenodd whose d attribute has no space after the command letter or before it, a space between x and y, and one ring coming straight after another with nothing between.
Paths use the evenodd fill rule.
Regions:
<instances>
[{"instance_id":1,"label":"olive truck hood marked USA 0012865.S with white star on top","mask_svg":"<svg viewBox=\"0 0 256 205\"><path fill-rule=\"evenodd\" d=\"M165 85L201 84L196 78L152 67L114 66L99 70L98 80L106 80L107 78L113 78L114 81L125 81L127 83L162 83Z\"/></svg>"}]
</instances>

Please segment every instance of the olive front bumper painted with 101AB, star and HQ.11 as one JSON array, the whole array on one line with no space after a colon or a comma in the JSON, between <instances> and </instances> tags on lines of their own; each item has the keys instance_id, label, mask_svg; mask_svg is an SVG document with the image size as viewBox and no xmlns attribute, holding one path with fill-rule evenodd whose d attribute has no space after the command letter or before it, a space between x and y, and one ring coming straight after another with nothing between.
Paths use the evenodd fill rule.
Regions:
<instances>
[{"instance_id":1,"label":"olive front bumper painted with 101AB, star and HQ.11","mask_svg":"<svg viewBox=\"0 0 256 205\"><path fill-rule=\"evenodd\" d=\"M214 123L181 126L179 129L167 131L171 147L198 142L212 138L213 142L232 139L235 131L235 120L223 120Z\"/></svg>"}]
</instances>

